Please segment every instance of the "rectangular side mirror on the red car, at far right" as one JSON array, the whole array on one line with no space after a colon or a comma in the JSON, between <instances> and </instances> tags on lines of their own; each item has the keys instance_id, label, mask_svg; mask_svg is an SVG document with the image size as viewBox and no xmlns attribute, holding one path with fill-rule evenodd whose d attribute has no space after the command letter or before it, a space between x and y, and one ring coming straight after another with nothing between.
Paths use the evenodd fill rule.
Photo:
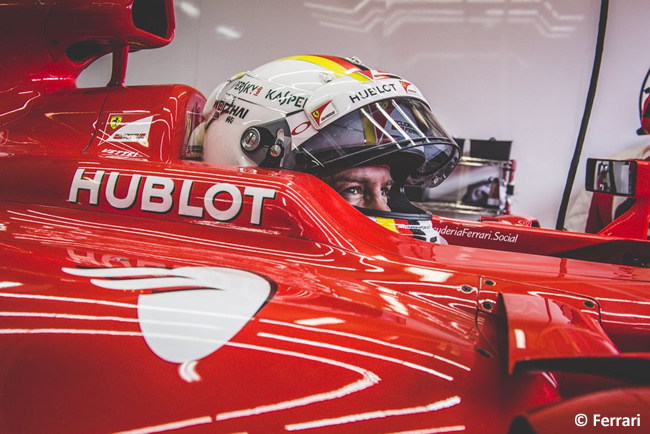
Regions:
<instances>
[{"instance_id":1,"label":"rectangular side mirror on the red car, at far right","mask_svg":"<svg viewBox=\"0 0 650 434\"><path fill-rule=\"evenodd\" d=\"M634 160L587 160L587 191L616 196L634 196L636 193L637 162Z\"/></svg>"}]
</instances>

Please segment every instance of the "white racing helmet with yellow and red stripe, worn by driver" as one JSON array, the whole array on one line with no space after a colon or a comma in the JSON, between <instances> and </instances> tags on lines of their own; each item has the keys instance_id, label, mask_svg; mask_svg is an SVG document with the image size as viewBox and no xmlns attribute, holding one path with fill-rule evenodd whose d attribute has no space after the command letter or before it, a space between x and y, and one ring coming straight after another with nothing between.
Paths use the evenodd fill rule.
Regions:
<instances>
[{"instance_id":1,"label":"white racing helmet with yellow and red stripe, worn by driver","mask_svg":"<svg viewBox=\"0 0 650 434\"><path fill-rule=\"evenodd\" d=\"M408 214L410 221L418 214L430 222L406 199L404 187L439 184L460 154L414 84L357 58L292 56L235 75L210 95L204 117L209 163L321 178L388 166L392 212L360 209L374 218Z\"/></svg>"}]
</instances>

